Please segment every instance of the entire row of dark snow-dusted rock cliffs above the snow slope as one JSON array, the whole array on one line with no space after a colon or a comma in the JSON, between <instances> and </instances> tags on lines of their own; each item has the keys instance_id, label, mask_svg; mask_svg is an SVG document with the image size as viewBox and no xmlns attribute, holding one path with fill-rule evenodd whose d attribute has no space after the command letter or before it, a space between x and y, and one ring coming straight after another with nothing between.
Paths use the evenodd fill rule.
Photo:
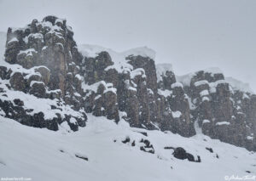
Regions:
<instances>
[{"instance_id":1,"label":"entire row of dark snow-dusted rock cliffs above the snow slope","mask_svg":"<svg viewBox=\"0 0 256 181\"><path fill-rule=\"evenodd\" d=\"M22 124L77 131L92 113L190 137L197 122L213 139L256 150L256 96L233 90L218 71L176 77L149 48L78 48L54 16L9 28L4 59L0 114Z\"/></svg>"}]
</instances>

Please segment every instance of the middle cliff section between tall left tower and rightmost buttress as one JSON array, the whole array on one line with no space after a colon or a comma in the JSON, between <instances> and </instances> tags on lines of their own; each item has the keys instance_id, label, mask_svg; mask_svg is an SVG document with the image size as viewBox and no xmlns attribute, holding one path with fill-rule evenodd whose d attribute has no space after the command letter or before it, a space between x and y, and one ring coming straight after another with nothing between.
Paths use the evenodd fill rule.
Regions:
<instances>
[{"instance_id":1,"label":"middle cliff section between tall left tower and rightmost buttress","mask_svg":"<svg viewBox=\"0 0 256 181\"><path fill-rule=\"evenodd\" d=\"M134 49L118 54L103 48L97 49L94 56L84 54L85 110L95 116L112 117L116 122L124 118L132 127L195 135L182 85L178 86L173 72L163 72L165 87L159 90L152 50L139 49L140 54ZM163 91L170 93L165 95Z\"/></svg>"}]
</instances>

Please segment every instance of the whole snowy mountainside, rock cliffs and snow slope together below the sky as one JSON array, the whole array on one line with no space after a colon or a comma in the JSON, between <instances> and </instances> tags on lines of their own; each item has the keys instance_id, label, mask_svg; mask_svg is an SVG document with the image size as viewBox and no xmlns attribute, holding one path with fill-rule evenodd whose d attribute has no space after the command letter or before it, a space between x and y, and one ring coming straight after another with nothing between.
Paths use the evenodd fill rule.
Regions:
<instances>
[{"instance_id":1,"label":"whole snowy mountainside, rock cliffs and snow slope together below the sky","mask_svg":"<svg viewBox=\"0 0 256 181\"><path fill-rule=\"evenodd\" d=\"M172 65L155 65L147 47L78 46L67 20L55 16L0 38L1 176L256 174L256 95L218 68L176 76Z\"/></svg>"}]
</instances>

